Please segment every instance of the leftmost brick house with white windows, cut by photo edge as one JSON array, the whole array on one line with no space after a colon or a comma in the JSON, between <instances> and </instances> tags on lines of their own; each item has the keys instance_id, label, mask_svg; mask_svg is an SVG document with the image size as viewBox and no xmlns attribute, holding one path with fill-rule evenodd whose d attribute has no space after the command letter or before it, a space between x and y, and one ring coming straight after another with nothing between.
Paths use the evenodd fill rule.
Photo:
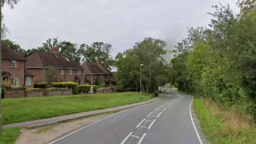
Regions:
<instances>
[{"instance_id":1,"label":"leftmost brick house with white windows, cut by photo edge","mask_svg":"<svg viewBox=\"0 0 256 144\"><path fill-rule=\"evenodd\" d=\"M13 86L34 87L34 75L26 69L26 61L21 54L2 44L2 81L7 79Z\"/></svg>"}]
</instances>

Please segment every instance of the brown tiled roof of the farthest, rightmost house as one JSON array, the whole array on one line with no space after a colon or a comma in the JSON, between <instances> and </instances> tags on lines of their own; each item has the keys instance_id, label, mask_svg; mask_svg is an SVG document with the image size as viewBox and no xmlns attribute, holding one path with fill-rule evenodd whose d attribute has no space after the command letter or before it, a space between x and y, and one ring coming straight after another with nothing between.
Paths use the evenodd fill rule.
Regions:
<instances>
[{"instance_id":1,"label":"brown tiled roof of the farthest, rightmost house","mask_svg":"<svg viewBox=\"0 0 256 144\"><path fill-rule=\"evenodd\" d=\"M113 74L98 62L85 62L82 66L84 67L84 74Z\"/></svg>"}]
</instances>

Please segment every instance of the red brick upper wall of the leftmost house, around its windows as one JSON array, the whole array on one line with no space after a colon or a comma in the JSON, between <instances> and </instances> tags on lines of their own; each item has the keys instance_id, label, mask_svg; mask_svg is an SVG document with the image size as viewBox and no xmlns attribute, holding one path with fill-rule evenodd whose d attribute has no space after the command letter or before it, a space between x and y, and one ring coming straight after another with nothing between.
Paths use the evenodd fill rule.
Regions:
<instances>
[{"instance_id":1,"label":"red brick upper wall of the leftmost house, around its windows","mask_svg":"<svg viewBox=\"0 0 256 144\"><path fill-rule=\"evenodd\" d=\"M18 67L17 68L11 68L11 60L2 60L2 69L9 71L13 77L19 77L20 78L20 84L19 86L25 85L25 61L18 61Z\"/></svg>"}]
</instances>

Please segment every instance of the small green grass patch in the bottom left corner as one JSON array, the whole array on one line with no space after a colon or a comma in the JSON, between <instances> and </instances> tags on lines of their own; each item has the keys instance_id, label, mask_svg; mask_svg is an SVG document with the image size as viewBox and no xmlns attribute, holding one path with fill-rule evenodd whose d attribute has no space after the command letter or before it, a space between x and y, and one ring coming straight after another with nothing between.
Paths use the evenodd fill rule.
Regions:
<instances>
[{"instance_id":1,"label":"small green grass patch in the bottom left corner","mask_svg":"<svg viewBox=\"0 0 256 144\"><path fill-rule=\"evenodd\" d=\"M19 134L19 128L4 129L2 134L0 134L0 144L15 143L16 139L19 137Z\"/></svg>"}]
</instances>

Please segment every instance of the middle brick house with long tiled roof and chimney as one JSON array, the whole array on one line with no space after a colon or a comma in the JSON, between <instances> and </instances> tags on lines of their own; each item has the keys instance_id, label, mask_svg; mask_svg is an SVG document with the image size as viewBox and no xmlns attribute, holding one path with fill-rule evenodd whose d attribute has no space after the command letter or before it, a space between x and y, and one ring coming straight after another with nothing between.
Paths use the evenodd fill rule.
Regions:
<instances>
[{"instance_id":1,"label":"middle brick house with long tiled roof and chimney","mask_svg":"<svg viewBox=\"0 0 256 144\"><path fill-rule=\"evenodd\" d=\"M65 55L58 54L58 48L52 47L50 52L35 52L26 61L26 68L35 75L34 82L47 82L47 67L56 68L55 82L76 82L84 84L84 69L79 63Z\"/></svg>"}]
</instances>

